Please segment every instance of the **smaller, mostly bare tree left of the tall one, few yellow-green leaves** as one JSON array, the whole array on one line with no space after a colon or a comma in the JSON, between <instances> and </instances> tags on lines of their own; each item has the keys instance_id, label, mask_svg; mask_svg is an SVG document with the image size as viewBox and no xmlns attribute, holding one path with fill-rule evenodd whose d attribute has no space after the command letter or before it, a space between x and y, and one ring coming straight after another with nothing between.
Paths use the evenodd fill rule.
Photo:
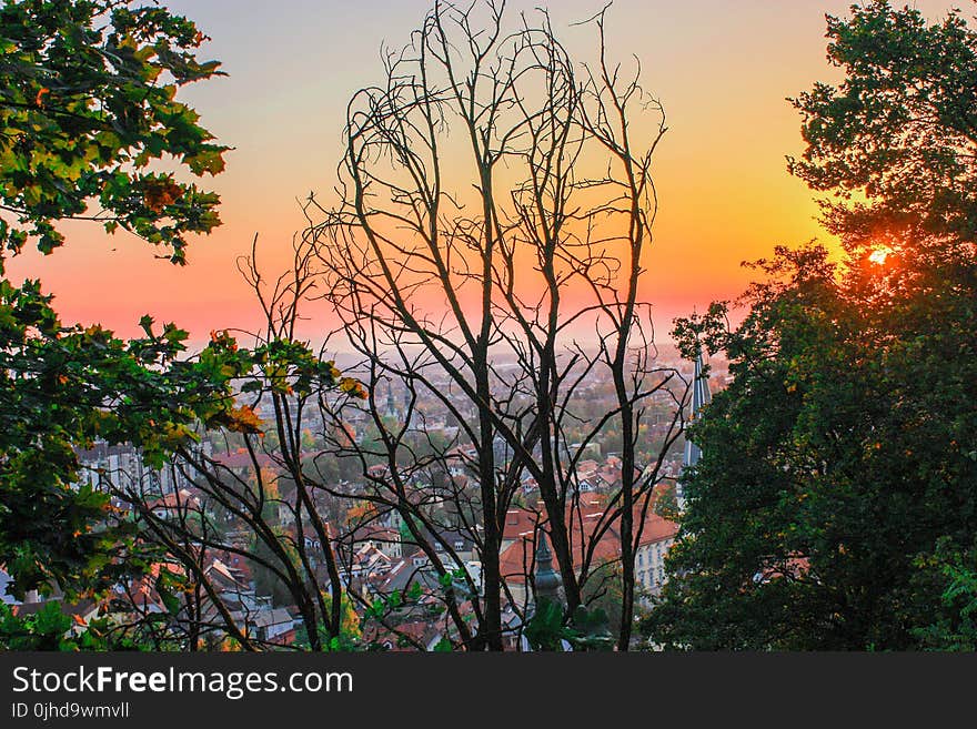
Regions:
<instances>
[{"instance_id":1,"label":"smaller, mostly bare tree left of the tall one, few yellow-green leaves","mask_svg":"<svg viewBox=\"0 0 977 729\"><path fill-rule=\"evenodd\" d=\"M271 282L263 277L255 253L256 239L240 270L255 292L265 327L250 333L254 346L238 373L242 416L223 428L201 425L198 434L210 444L223 438L224 452L193 441L177 445L168 467L171 480L183 488L101 477L102 488L137 519L141 539L162 548L162 565L182 574L174 591L182 590L184 605L172 609L172 619L162 627L169 639L190 650L202 636L218 632L245 650L269 645L249 628L261 596L248 580L221 584L225 575L214 574L215 558L268 575L298 611L312 650L342 634L345 583L334 551L335 529L325 516L329 494L308 467L303 436L314 427L309 414L319 412L324 393L342 407L362 391L295 337L301 304L314 285L308 247L296 245L292 265ZM212 347L236 350L226 332L212 334ZM159 583L151 587L164 591ZM137 603L131 600L138 617Z\"/></svg>"}]
</instances>

